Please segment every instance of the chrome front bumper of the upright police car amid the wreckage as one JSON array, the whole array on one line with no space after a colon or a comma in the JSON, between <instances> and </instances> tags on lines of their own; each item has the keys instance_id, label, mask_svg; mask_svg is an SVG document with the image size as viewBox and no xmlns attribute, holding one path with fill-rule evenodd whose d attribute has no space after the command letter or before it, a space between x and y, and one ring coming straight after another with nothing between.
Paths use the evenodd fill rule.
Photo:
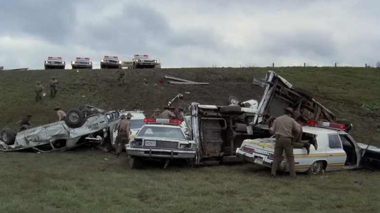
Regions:
<instances>
[{"instance_id":1,"label":"chrome front bumper of the upright police car amid the wreckage","mask_svg":"<svg viewBox=\"0 0 380 213\"><path fill-rule=\"evenodd\" d=\"M170 159L192 159L195 158L195 150L173 150L126 147L127 154L133 157L145 158L170 158Z\"/></svg>"}]
</instances>

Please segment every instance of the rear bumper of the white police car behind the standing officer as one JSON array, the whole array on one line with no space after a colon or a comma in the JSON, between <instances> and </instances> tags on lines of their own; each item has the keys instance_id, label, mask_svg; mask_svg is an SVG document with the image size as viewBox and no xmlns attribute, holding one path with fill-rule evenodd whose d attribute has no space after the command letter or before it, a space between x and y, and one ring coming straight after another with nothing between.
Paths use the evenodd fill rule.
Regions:
<instances>
[{"instance_id":1,"label":"rear bumper of the white police car behind the standing officer","mask_svg":"<svg viewBox=\"0 0 380 213\"><path fill-rule=\"evenodd\" d=\"M268 168L272 167L273 160L269 159L268 156L266 155L262 155L255 152L253 154L250 154L250 153L244 152L242 148L237 148L236 156L242 159L243 161L248 161L248 162L262 165ZM282 160L281 162L279 162L277 169L280 171L286 171L286 166L287 166L287 162L285 160Z\"/></svg>"}]
</instances>

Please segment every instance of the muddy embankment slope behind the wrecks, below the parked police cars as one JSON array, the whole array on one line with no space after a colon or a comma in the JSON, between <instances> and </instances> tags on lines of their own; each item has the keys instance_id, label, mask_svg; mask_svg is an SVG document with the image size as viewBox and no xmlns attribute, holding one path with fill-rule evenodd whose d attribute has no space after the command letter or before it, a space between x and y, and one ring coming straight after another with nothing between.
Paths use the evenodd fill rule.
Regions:
<instances>
[{"instance_id":1,"label":"muddy embankment slope behind the wrecks, below the parked police cars","mask_svg":"<svg viewBox=\"0 0 380 213\"><path fill-rule=\"evenodd\" d=\"M334 68L331 68L334 69ZM316 93L316 99L328 106L338 116L353 120L353 133L364 139L368 138L368 130L379 137L378 112L364 111L361 100L377 101L375 94L353 96L356 93L344 90L345 84L332 83L331 76L337 72L345 72L347 81L356 84L355 68L331 70L330 68L195 68L195 69L144 69L126 70L128 79L126 86L118 86L117 74L114 70L42 70L42 71L1 71L0 72L0 126L15 127L21 116L31 113L33 125L44 124L56 120L53 108L61 106L69 110L80 104L89 104L103 108L140 109L152 113L155 107L162 107L178 92L185 95L186 104L198 102L202 104L225 105L228 96L237 96L240 100L256 99L260 101L263 89L252 84L254 76L264 77L267 70L275 70L298 87L308 88ZM347 70L348 69L348 70ZM324 73L323 73L324 72ZM379 74L376 70L370 70ZM315 75L312 77L311 73ZM351 73L351 76L349 75ZM360 75L361 85L367 89L376 88L379 82L365 72ZM368 74L368 73L367 73ZM192 81L208 82L210 85L170 85L165 75L185 78ZM42 81L48 93L48 81L56 76L59 93L55 99L48 95L41 102L34 99L34 85ZM371 79L372 78L372 79ZM164 84L157 82L163 80ZM366 82L367 81L367 82ZM371 85L372 84L372 85ZM334 86L341 89L339 94ZM354 85L355 86L355 85ZM379 87L380 88L380 87ZM361 88L363 89L363 88ZM364 88L365 89L365 88ZM372 90L371 90L372 91ZM186 92L186 93L185 93ZM378 92L378 90L372 91ZM367 94L368 92L366 92ZM351 97L352 96L352 97ZM371 135L372 136L372 135ZM367 139L366 138L366 139Z\"/></svg>"}]
</instances>

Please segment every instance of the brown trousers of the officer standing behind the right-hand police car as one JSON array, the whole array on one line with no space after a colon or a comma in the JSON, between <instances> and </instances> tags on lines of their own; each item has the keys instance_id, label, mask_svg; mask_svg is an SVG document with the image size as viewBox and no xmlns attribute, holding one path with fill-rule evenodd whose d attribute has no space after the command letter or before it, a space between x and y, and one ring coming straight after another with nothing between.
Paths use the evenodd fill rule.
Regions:
<instances>
[{"instance_id":1,"label":"brown trousers of the officer standing behind the right-hand police car","mask_svg":"<svg viewBox=\"0 0 380 213\"><path fill-rule=\"evenodd\" d=\"M285 151L287 161L289 163L290 177L296 177L296 164L294 162L293 145L291 138L280 137L274 145L274 160L272 162L272 175L276 175L279 160Z\"/></svg>"}]
</instances>

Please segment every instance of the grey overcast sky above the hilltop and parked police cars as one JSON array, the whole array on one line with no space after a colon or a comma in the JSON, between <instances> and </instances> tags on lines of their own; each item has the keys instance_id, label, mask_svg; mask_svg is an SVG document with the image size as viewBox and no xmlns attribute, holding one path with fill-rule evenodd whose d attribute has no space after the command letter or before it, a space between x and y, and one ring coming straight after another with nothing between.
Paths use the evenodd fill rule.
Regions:
<instances>
[{"instance_id":1,"label":"grey overcast sky above the hilltop and parked police cars","mask_svg":"<svg viewBox=\"0 0 380 213\"><path fill-rule=\"evenodd\" d=\"M162 67L375 65L380 0L0 0L0 66L148 54Z\"/></svg>"}]
</instances>

